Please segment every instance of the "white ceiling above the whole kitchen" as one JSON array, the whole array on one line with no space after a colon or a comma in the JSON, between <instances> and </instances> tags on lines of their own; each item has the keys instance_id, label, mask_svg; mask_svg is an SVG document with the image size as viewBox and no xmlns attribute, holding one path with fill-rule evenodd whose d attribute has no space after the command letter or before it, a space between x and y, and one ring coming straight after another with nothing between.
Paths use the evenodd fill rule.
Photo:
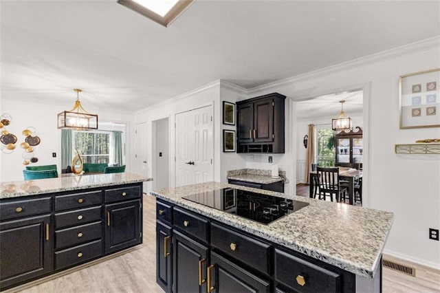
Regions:
<instances>
[{"instance_id":1,"label":"white ceiling above the whole kitchen","mask_svg":"<svg viewBox=\"0 0 440 293\"><path fill-rule=\"evenodd\" d=\"M203 1L169 28L116 3L0 1L1 97L135 111L440 35L439 1Z\"/></svg>"}]
</instances>

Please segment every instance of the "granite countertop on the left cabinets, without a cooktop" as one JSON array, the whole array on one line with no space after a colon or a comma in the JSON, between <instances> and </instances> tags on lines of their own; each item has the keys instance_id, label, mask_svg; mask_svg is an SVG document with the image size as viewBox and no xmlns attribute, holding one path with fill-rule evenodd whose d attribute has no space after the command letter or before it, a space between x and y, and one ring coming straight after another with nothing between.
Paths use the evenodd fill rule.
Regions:
<instances>
[{"instance_id":1,"label":"granite countertop on the left cabinets, without a cooktop","mask_svg":"<svg viewBox=\"0 0 440 293\"><path fill-rule=\"evenodd\" d=\"M83 188L95 188L120 184L152 181L133 173L109 173L97 175L78 175L39 180L1 182L0 199L25 197L42 193L74 191Z\"/></svg>"}]
</instances>

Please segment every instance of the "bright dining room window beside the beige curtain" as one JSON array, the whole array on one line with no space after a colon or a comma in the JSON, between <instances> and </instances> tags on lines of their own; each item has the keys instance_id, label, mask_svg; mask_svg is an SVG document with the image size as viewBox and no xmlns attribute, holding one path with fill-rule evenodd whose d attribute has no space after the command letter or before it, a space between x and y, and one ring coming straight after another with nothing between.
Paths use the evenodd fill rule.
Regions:
<instances>
[{"instance_id":1,"label":"bright dining room window beside the beige curtain","mask_svg":"<svg viewBox=\"0 0 440 293\"><path fill-rule=\"evenodd\" d=\"M318 165L335 166L335 134L331 128L316 129Z\"/></svg>"}]
</instances>

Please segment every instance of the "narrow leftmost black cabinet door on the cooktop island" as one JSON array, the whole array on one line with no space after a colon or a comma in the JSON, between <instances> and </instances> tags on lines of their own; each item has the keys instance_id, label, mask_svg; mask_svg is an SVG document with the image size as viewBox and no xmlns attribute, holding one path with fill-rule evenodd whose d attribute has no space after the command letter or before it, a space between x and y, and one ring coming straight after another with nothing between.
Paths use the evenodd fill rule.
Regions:
<instances>
[{"instance_id":1,"label":"narrow leftmost black cabinet door on the cooktop island","mask_svg":"<svg viewBox=\"0 0 440 293\"><path fill-rule=\"evenodd\" d=\"M169 293L173 288L171 232L170 226L160 221L156 222L156 281L165 292Z\"/></svg>"}]
</instances>

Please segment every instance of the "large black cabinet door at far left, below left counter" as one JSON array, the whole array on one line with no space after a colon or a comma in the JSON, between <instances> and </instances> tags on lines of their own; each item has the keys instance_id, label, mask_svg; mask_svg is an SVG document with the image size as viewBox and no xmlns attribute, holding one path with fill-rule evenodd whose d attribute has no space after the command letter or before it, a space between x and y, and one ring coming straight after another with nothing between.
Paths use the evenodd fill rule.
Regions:
<instances>
[{"instance_id":1,"label":"large black cabinet door at far left, below left counter","mask_svg":"<svg viewBox=\"0 0 440 293\"><path fill-rule=\"evenodd\" d=\"M52 271L50 215L0 224L0 287L5 289Z\"/></svg>"}]
</instances>

